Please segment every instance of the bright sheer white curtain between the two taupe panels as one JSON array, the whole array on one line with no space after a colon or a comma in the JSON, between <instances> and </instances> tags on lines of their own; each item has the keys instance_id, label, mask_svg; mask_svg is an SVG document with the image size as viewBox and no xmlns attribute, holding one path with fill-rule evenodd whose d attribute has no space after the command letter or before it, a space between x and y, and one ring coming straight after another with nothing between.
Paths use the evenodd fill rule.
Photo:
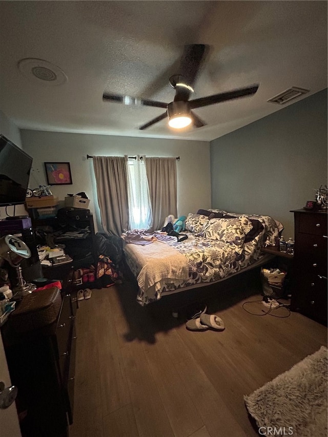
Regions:
<instances>
[{"instance_id":1,"label":"bright sheer white curtain between the two taupe panels","mask_svg":"<svg viewBox=\"0 0 328 437\"><path fill-rule=\"evenodd\" d=\"M152 207L146 173L145 156L130 159L125 155L128 178L129 229L149 229Z\"/></svg>"}]
</instances>

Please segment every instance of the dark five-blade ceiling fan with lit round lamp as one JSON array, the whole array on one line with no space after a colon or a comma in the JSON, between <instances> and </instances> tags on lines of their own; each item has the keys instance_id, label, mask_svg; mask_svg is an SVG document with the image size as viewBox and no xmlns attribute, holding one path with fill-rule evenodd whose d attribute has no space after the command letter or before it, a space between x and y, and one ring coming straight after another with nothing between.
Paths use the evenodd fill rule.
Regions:
<instances>
[{"instance_id":1,"label":"dark five-blade ceiling fan with lit round lamp","mask_svg":"<svg viewBox=\"0 0 328 437\"><path fill-rule=\"evenodd\" d=\"M169 79L171 86L175 89L174 100L170 103L120 94L109 94L106 92L103 94L103 100L124 103L125 105L140 104L166 109L166 112L163 114L142 124L142 126L139 127L140 130L147 129L166 117L169 119L169 126L176 129L185 128L191 123L193 123L195 128L206 126L206 122L201 120L201 118L192 111L193 109L214 105L214 103L220 103L222 101L251 96L256 93L259 87L259 85L255 84L247 88L239 88L226 93L213 94L211 96L189 100L191 94L194 92L194 82L206 49L207 46L204 44L185 46L185 51L183 52L180 62L179 74L175 74Z\"/></svg>"}]
</instances>

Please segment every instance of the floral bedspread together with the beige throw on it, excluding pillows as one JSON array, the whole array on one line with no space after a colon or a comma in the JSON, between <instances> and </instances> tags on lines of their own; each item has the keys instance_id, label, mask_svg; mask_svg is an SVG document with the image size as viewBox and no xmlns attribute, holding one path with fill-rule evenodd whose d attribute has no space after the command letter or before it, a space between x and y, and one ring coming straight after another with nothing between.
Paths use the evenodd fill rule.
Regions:
<instances>
[{"instance_id":1,"label":"floral bedspread together with the beige throw on it, excluding pillows","mask_svg":"<svg viewBox=\"0 0 328 437\"><path fill-rule=\"evenodd\" d=\"M227 279L260 263L261 247L274 244L278 226L271 217L247 217L256 218L263 226L258 235L244 243L238 238L222 241L229 232L220 233L220 240L215 240L199 232L185 231L188 239L181 242L171 238L146 246L126 244L126 261L139 285L137 302L146 305L160 299L162 294Z\"/></svg>"}]
</instances>

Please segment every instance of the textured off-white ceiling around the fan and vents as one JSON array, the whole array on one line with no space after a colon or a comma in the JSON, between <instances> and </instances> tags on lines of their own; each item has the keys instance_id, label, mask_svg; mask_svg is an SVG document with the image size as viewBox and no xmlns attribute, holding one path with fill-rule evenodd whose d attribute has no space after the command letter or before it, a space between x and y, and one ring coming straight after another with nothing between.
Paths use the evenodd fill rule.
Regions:
<instances>
[{"instance_id":1,"label":"textured off-white ceiling around the fan and vents","mask_svg":"<svg viewBox=\"0 0 328 437\"><path fill-rule=\"evenodd\" d=\"M323 1L0 1L0 41L0 109L22 129L210 141L298 101L267 102L290 87L308 97L327 86ZM192 98L254 83L257 93L196 109L207 126L183 132L167 119L139 131L163 110L103 102L104 91L172 101L169 77L194 43L210 50ZM68 80L26 76L24 58Z\"/></svg>"}]
</instances>

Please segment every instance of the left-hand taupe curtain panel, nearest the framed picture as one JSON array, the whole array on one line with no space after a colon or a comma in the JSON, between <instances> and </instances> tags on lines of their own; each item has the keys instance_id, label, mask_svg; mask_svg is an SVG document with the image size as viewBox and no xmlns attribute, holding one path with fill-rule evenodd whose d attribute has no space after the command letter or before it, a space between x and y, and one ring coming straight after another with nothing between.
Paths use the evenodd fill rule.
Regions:
<instances>
[{"instance_id":1,"label":"left-hand taupe curtain panel, nearest the framed picture","mask_svg":"<svg viewBox=\"0 0 328 437\"><path fill-rule=\"evenodd\" d=\"M94 156L93 168L101 224L105 232L120 236L129 223L126 158Z\"/></svg>"}]
</instances>

